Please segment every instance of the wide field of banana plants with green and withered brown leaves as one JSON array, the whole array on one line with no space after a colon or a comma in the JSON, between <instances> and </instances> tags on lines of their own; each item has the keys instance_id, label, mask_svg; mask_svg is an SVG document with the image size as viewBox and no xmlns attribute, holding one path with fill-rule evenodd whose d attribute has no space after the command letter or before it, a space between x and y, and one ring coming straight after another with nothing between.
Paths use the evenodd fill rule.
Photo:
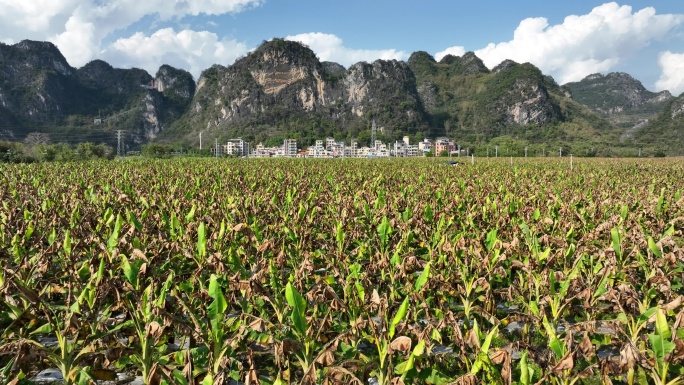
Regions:
<instances>
[{"instance_id":1,"label":"wide field of banana plants with green and withered brown leaves","mask_svg":"<svg viewBox=\"0 0 684 385\"><path fill-rule=\"evenodd\" d=\"M0 165L0 383L684 383L681 159Z\"/></svg>"}]
</instances>

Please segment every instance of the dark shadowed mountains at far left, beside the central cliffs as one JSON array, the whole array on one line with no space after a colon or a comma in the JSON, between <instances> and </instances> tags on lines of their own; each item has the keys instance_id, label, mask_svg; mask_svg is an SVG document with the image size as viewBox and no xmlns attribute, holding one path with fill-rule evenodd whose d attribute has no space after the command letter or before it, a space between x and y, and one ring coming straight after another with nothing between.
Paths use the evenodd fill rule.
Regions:
<instances>
[{"instance_id":1,"label":"dark shadowed mountains at far left, beside the central cliffs","mask_svg":"<svg viewBox=\"0 0 684 385\"><path fill-rule=\"evenodd\" d=\"M187 72L164 66L158 77L170 92L157 91L141 69L101 60L72 68L51 43L0 44L0 139L39 131L55 140L114 142L114 131L123 129L129 142L150 140L194 95Z\"/></svg>"}]
</instances>

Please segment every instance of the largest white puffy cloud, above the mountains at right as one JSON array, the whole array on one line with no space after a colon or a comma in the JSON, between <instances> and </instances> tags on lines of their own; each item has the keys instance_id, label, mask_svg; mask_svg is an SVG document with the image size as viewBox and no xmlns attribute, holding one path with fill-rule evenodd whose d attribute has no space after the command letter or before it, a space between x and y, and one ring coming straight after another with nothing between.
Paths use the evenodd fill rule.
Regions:
<instances>
[{"instance_id":1,"label":"largest white puffy cloud, above the mountains at right","mask_svg":"<svg viewBox=\"0 0 684 385\"><path fill-rule=\"evenodd\" d=\"M682 22L682 15L658 15L652 7L632 12L632 7L612 2L557 25L545 18L525 19L512 40L489 44L475 54L489 68L505 59L530 62L564 84L615 68Z\"/></svg>"}]
</instances>

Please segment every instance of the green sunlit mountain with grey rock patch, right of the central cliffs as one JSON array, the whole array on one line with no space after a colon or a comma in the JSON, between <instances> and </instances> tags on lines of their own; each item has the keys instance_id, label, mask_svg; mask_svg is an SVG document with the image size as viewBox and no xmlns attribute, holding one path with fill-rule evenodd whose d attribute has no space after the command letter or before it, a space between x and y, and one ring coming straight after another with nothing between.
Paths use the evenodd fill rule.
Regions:
<instances>
[{"instance_id":1,"label":"green sunlit mountain with grey rock patch, right of the central cliffs","mask_svg":"<svg viewBox=\"0 0 684 385\"><path fill-rule=\"evenodd\" d=\"M473 53L436 62L426 52L408 61L434 135L464 146L515 148L542 145L575 147L582 154L611 141L617 133L604 119L569 99L535 66L507 60L487 70ZM541 150L540 150L541 151Z\"/></svg>"}]
</instances>

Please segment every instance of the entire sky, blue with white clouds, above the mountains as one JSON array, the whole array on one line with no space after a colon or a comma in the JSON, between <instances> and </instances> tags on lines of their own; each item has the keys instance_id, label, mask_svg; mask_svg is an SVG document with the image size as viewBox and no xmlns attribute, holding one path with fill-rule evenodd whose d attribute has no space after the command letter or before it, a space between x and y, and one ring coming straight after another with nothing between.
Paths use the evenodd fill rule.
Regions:
<instances>
[{"instance_id":1,"label":"entire sky, blue with white clouds, above the mountains","mask_svg":"<svg viewBox=\"0 0 684 385\"><path fill-rule=\"evenodd\" d=\"M682 1L0 0L0 41L52 41L75 67L171 64L197 79L273 37L345 66L474 51L490 68L529 61L560 83L624 71L684 92Z\"/></svg>"}]
</instances>

